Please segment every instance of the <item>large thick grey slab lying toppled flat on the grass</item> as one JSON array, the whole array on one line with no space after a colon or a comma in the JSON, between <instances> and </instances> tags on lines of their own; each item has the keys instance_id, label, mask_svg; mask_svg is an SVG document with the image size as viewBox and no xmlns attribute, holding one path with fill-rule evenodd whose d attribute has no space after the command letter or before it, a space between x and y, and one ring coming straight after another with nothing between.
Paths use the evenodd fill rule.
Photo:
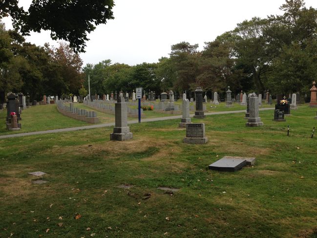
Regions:
<instances>
[{"instance_id":1,"label":"large thick grey slab lying toppled flat on the grass","mask_svg":"<svg viewBox=\"0 0 317 238\"><path fill-rule=\"evenodd\" d=\"M221 158L209 165L210 170L235 172L247 164L245 159Z\"/></svg>"}]
</instances>

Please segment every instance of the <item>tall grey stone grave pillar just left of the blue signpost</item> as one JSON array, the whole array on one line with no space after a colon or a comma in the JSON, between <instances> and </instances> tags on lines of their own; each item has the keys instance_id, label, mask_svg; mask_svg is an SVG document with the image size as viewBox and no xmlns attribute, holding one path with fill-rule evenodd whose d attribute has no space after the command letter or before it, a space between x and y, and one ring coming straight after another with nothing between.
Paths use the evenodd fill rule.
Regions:
<instances>
[{"instance_id":1,"label":"tall grey stone grave pillar just left of the blue signpost","mask_svg":"<svg viewBox=\"0 0 317 238\"><path fill-rule=\"evenodd\" d=\"M123 97L119 97L115 104L115 127L110 134L110 140L129 140L132 138L130 128L127 126L127 103Z\"/></svg>"}]
</instances>

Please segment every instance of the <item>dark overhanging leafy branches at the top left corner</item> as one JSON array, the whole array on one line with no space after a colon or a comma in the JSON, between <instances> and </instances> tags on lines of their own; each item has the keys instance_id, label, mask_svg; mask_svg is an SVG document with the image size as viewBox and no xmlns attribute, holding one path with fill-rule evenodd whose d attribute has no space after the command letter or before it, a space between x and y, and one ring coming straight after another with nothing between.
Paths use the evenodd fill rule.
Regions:
<instances>
[{"instance_id":1,"label":"dark overhanging leafy branches at the top left corner","mask_svg":"<svg viewBox=\"0 0 317 238\"><path fill-rule=\"evenodd\" d=\"M32 0L28 11L18 2L0 1L0 19L10 15L22 35L49 30L53 40L68 41L75 52L85 52L87 34L95 25L114 18L113 0Z\"/></svg>"}]
</instances>

